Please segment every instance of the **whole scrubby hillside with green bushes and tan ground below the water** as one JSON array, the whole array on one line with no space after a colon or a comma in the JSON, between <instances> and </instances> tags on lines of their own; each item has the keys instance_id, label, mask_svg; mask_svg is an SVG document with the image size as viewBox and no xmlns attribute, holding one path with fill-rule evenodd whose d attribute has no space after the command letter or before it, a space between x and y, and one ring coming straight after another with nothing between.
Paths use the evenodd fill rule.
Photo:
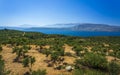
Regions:
<instances>
[{"instance_id":1,"label":"whole scrubby hillside with green bushes and tan ground below the water","mask_svg":"<svg viewBox=\"0 0 120 75\"><path fill-rule=\"evenodd\" d=\"M119 40L0 30L0 75L119 75Z\"/></svg>"}]
</instances>

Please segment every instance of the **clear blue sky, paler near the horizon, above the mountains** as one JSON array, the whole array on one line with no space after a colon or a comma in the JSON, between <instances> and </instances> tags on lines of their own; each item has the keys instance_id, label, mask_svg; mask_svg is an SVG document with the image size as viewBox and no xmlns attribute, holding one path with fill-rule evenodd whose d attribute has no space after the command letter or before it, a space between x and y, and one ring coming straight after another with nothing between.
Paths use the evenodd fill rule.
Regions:
<instances>
[{"instance_id":1,"label":"clear blue sky, paler near the horizon, above the mountains","mask_svg":"<svg viewBox=\"0 0 120 75\"><path fill-rule=\"evenodd\" d=\"M120 26L120 0L0 0L0 26L57 23Z\"/></svg>"}]
</instances>

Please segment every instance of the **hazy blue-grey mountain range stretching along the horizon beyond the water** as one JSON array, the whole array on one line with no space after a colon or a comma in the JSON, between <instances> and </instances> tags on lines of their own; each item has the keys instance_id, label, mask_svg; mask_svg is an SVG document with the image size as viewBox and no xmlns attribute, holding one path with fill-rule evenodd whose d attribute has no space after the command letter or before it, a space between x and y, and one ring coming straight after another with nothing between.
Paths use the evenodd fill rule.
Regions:
<instances>
[{"instance_id":1,"label":"hazy blue-grey mountain range stretching along the horizon beyond the water","mask_svg":"<svg viewBox=\"0 0 120 75\"><path fill-rule=\"evenodd\" d=\"M27 24L28 25L28 24ZM64 30L73 30L73 31L106 31L106 32L120 32L120 26L112 26L107 24L92 24L92 23L68 23L68 24L53 24L46 25L45 27L29 27L32 25L28 25L28 27L24 28L24 25L19 27L4 27L1 26L0 29L8 28L8 29L24 29L24 30L38 30L41 28L47 29L64 29Z\"/></svg>"}]
</instances>

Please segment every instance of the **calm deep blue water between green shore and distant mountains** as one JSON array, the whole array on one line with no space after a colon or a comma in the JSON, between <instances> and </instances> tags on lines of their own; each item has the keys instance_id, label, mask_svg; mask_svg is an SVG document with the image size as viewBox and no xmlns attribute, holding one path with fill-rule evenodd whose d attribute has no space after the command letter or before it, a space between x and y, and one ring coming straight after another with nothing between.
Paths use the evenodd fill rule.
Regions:
<instances>
[{"instance_id":1,"label":"calm deep blue water between green shore and distant mountains","mask_svg":"<svg viewBox=\"0 0 120 75\"><path fill-rule=\"evenodd\" d=\"M70 36L120 36L120 32L85 32L85 31L72 31L61 29L29 29L24 31L42 32L45 34L62 34Z\"/></svg>"}]
</instances>

